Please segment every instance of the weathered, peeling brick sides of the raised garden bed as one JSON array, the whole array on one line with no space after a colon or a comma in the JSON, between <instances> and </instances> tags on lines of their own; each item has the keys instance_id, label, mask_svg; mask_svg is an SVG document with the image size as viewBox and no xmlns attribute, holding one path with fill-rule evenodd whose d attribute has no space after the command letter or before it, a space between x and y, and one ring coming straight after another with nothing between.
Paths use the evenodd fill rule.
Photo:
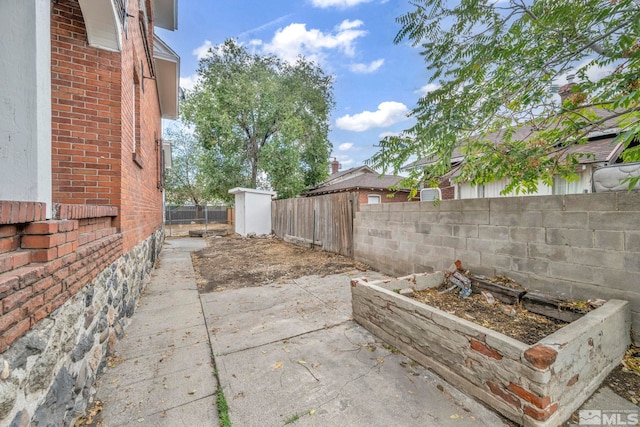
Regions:
<instances>
[{"instance_id":1,"label":"weathered, peeling brick sides of the raised garden bed","mask_svg":"<svg viewBox=\"0 0 640 427\"><path fill-rule=\"evenodd\" d=\"M401 283L354 279L351 286L358 323L525 426L565 421L629 345L626 301L609 300L530 345L391 290Z\"/></svg>"}]
</instances>

